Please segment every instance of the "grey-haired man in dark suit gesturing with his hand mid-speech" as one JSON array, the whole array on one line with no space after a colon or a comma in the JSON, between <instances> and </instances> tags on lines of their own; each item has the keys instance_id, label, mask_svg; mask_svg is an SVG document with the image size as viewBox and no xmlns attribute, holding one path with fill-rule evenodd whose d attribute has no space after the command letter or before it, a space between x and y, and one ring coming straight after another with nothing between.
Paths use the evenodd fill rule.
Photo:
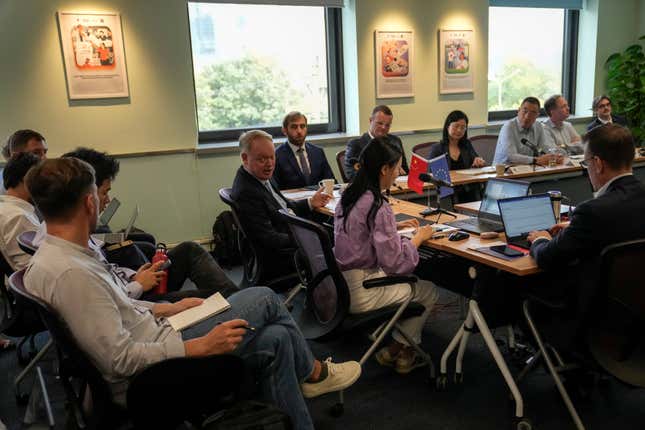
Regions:
<instances>
[{"instance_id":1,"label":"grey-haired man in dark suit gesturing with his hand mid-speech","mask_svg":"<svg viewBox=\"0 0 645 430\"><path fill-rule=\"evenodd\" d=\"M251 130L240 136L242 166L233 181L231 197L240 208L240 223L248 239L261 255L265 281L294 271L292 242L287 225L278 210L289 209L298 216L307 217L311 211L326 205L331 196L320 188L306 200L289 200L280 193L271 180L275 169L275 149L270 134Z\"/></svg>"}]
</instances>

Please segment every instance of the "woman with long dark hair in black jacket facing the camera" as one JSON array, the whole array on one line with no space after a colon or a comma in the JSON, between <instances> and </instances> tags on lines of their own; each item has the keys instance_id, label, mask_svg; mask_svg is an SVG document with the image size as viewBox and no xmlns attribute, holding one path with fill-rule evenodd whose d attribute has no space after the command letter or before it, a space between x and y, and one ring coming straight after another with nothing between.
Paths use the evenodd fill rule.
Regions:
<instances>
[{"instance_id":1,"label":"woman with long dark hair in black jacket facing the camera","mask_svg":"<svg viewBox=\"0 0 645 430\"><path fill-rule=\"evenodd\" d=\"M443 123L443 136L439 143L432 145L429 158L446 154L450 170L483 167L486 164L468 140L468 116L460 110L453 110ZM455 188L455 203L479 200L479 184L461 185Z\"/></svg>"}]
</instances>

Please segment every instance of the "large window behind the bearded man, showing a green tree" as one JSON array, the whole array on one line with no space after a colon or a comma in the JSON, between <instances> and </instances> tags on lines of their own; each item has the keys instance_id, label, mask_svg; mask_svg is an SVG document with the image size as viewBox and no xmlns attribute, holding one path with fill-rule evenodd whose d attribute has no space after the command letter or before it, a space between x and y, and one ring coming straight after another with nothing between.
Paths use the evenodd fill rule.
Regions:
<instances>
[{"instance_id":1,"label":"large window behind the bearded man, showing a green tree","mask_svg":"<svg viewBox=\"0 0 645 430\"><path fill-rule=\"evenodd\" d=\"M200 141L307 116L309 134L339 131L340 11L311 6L188 3Z\"/></svg>"}]
</instances>

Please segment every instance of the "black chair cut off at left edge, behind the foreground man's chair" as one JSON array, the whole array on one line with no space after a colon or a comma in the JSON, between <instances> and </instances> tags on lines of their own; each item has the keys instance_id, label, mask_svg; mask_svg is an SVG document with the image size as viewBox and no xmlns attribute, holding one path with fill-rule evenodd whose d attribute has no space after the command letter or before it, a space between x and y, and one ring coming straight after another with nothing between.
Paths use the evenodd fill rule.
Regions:
<instances>
[{"instance_id":1,"label":"black chair cut off at left edge, behind the foreground man's chair","mask_svg":"<svg viewBox=\"0 0 645 430\"><path fill-rule=\"evenodd\" d=\"M0 254L0 270L2 277L10 277L13 268L9 265L4 255ZM20 384L31 370L47 354L52 346L49 340L40 351L36 353L35 336L38 333L46 331L45 326L40 321L38 314L31 306L24 306L16 301L16 298L10 291L5 288L4 282L0 285L0 302L3 305L2 320L0 320L0 333L8 336L21 338L16 348L18 363L26 367L16 376L13 382L14 393L18 403L24 403L27 395L20 390ZM23 353L25 344L29 344L28 352Z\"/></svg>"}]
</instances>

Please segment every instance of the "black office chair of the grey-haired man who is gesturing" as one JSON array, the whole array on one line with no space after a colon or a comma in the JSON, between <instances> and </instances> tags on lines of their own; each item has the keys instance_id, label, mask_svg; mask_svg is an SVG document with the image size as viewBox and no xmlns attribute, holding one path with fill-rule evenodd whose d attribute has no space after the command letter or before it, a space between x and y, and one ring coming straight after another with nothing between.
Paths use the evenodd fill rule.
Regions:
<instances>
[{"instance_id":1,"label":"black office chair of the grey-haired man who is gesturing","mask_svg":"<svg viewBox=\"0 0 645 430\"><path fill-rule=\"evenodd\" d=\"M240 208L231 197L231 189L220 188L219 196L220 199L222 199L222 201L231 208L231 212L233 213L233 220L235 221L235 226L237 227L237 243L240 247L240 255L242 256L242 264L244 266L244 286L253 287L256 285L263 285L269 288L276 289L277 291L284 291L296 286L300 282L300 277L295 272L284 276L271 278L268 278L265 275L265 264L260 258L262 253L260 253L258 249L256 249L255 244L251 240L249 240L248 236L244 232L244 227L242 226L238 215L240 213ZM294 255L291 258L296 258L295 250Z\"/></svg>"}]
</instances>

